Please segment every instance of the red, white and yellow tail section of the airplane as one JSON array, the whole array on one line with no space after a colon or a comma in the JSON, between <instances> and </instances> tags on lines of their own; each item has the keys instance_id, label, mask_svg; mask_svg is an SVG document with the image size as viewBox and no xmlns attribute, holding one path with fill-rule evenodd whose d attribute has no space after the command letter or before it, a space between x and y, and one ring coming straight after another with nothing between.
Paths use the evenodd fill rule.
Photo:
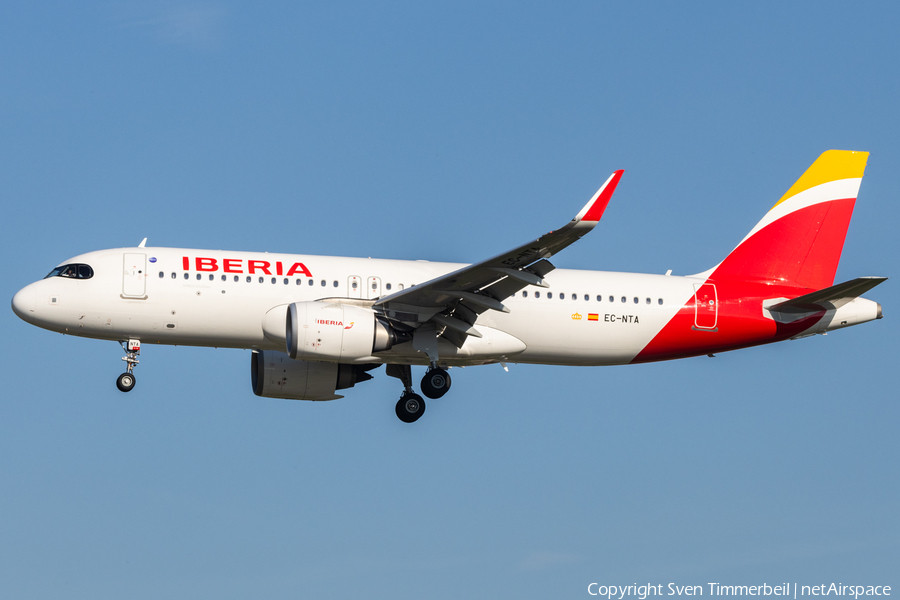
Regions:
<instances>
[{"instance_id":1,"label":"red, white and yellow tail section of the airplane","mask_svg":"<svg viewBox=\"0 0 900 600\"><path fill-rule=\"evenodd\" d=\"M832 288L868 152L828 150L716 267L634 362L682 358L825 333L881 318L858 296L884 278ZM817 301L793 302L800 298Z\"/></svg>"}]
</instances>

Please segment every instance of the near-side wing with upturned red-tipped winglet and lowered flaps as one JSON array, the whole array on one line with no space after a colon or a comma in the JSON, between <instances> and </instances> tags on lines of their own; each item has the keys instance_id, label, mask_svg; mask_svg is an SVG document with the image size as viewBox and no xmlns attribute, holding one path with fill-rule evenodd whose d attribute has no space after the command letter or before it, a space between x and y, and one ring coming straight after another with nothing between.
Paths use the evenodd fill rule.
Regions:
<instances>
[{"instance_id":1,"label":"near-side wing with upturned red-tipped winglet and lowered flaps","mask_svg":"<svg viewBox=\"0 0 900 600\"><path fill-rule=\"evenodd\" d=\"M481 337L473 327L486 310L509 312L503 300L528 285L547 287L544 276L555 267L547 259L577 242L603 216L623 171L610 175L574 219L533 242L513 248L488 260L463 267L431 281L386 296L375 303L395 326L422 329L431 340L443 336L460 348L466 337ZM423 325L428 324L427 327ZM417 349L431 348L425 336L416 334ZM420 348L421 347L421 348ZM428 352L431 356L432 352Z\"/></svg>"}]
</instances>

